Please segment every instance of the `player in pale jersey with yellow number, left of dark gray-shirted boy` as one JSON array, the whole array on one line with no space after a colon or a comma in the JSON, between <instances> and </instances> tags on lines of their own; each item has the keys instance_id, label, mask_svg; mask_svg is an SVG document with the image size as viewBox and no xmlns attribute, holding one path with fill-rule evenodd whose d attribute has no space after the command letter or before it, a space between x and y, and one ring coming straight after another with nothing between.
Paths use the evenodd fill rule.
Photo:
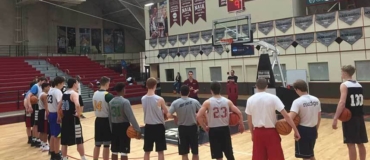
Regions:
<instances>
[{"instance_id":1,"label":"player in pale jersey with yellow number, left of dark gray-shirted boy","mask_svg":"<svg viewBox=\"0 0 370 160\"><path fill-rule=\"evenodd\" d=\"M100 78L100 89L94 93L93 102L95 110L95 147L94 160L99 159L100 147L103 145L103 159L109 159L109 146L111 144L111 130L109 122L109 105L113 95L107 92L110 79L108 77Z\"/></svg>"}]
</instances>

